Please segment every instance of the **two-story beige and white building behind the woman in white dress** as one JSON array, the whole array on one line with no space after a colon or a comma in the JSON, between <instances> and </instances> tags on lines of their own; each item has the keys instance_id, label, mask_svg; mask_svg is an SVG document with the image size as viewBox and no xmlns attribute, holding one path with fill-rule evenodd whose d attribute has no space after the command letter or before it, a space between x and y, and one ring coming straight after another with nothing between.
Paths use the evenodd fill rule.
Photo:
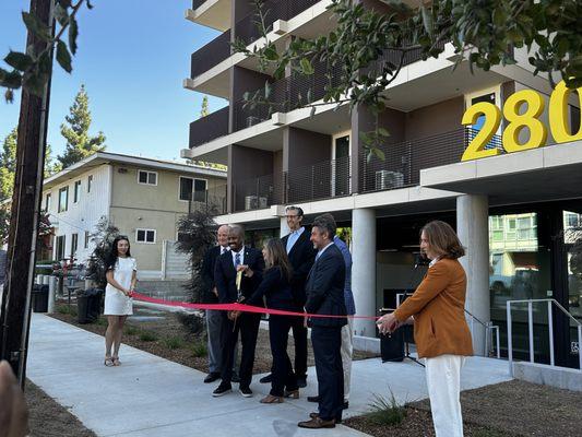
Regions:
<instances>
[{"instance_id":1,"label":"two-story beige and white building behind the woman in white dress","mask_svg":"<svg viewBox=\"0 0 582 437\"><path fill-rule=\"evenodd\" d=\"M86 262L91 235L105 217L129 237L140 279L187 276L174 248L177 222L200 204L224 211L225 179L223 170L98 152L45 180L54 259Z\"/></svg>"}]
</instances>

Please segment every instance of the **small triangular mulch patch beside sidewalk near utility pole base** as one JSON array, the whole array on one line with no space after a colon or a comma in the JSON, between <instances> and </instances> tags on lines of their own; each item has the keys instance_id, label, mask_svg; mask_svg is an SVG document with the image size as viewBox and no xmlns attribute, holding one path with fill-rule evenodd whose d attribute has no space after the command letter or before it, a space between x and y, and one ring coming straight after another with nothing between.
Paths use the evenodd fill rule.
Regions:
<instances>
[{"instance_id":1,"label":"small triangular mulch patch beside sidewalk near utility pole base","mask_svg":"<svg viewBox=\"0 0 582 437\"><path fill-rule=\"evenodd\" d=\"M64 406L48 397L29 380L25 389L28 426L32 437L96 437Z\"/></svg>"}]
</instances>

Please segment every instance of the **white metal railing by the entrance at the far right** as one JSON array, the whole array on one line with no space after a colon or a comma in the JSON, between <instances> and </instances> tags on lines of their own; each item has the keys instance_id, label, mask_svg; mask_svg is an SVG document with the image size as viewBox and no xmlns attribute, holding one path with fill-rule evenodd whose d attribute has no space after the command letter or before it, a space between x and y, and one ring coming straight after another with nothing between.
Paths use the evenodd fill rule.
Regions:
<instances>
[{"instance_id":1,"label":"white metal railing by the entrance at the far right","mask_svg":"<svg viewBox=\"0 0 582 437\"><path fill-rule=\"evenodd\" d=\"M521 300L508 300L507 302L507 320L508 320L508 359L509 359L509 374L513 376L513 342L511 339L512 335L512 323L511 323L511 305L512 304L527 304L527 332L530 338L530 363L535 363L534 355L534 303L547 303L548 309L548 340L549 340L549 364L550 366L556 366L556 361L554 356L554 315L551 312L551 305L556 305L566 316L572 320L578 328L578 357L580 361L580 370L582 370L582 352L580 351L581 340L582 340L582 323L579 322L566 308L563 308L556 299L521 299Z\"/></svg>"}]
</instances>

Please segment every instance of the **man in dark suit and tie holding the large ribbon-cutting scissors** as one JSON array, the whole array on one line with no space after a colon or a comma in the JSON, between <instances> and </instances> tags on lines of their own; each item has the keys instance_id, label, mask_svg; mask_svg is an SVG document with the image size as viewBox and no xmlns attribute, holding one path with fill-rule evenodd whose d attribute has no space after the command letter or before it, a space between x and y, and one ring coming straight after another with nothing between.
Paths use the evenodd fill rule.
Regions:
<instances>
[{"instance_id":1,"label":"man in dark suit and tie holding the large ribbon-cutting scissors","mask_svg":"<svg viewBox=\"0 0 582 437\"><path fill-rule=\"evenodd\" d=\"M251 247L245 246L245 232L242 227L230 226L228 233L230 251L221 255L214 269L214 282L218 291L221 304L244 302L252 296L261 283L264 270L262 253ZM237 275L240 276L240 286L237 287ZM224 345L222 358L222 382L212 393L214 397L223 395L231 391L233 361L235 345L240 340L242 343L242 356L240 358L239 391L245 398L250 398L252 391L252 365L254 364L254 349L259 333L260 314L223 311L222 343Z\"/></svg>"}]
</instances>

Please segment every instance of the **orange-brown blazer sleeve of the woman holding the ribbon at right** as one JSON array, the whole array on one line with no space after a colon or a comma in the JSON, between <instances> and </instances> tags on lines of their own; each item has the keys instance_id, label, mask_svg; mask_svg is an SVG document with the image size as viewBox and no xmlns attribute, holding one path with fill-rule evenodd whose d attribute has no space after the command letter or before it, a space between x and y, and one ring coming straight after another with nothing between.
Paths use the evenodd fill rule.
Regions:
<instances>
[{"instance_id":1,"label":"orange-brown blazer sleeve of the woman holding the ribbon at right","mask_svg":"<svg viewBox=\"0 0 582 437\"><path fill-rule=\"evenodd\" d=\"M451 282L451 275L446 262L437 262L428 269L426 277L418 288L394 311L394 317L399 321L404 321L408 317L418 314L430 300L439 295Z\"/></svg>"}]
</instances>

